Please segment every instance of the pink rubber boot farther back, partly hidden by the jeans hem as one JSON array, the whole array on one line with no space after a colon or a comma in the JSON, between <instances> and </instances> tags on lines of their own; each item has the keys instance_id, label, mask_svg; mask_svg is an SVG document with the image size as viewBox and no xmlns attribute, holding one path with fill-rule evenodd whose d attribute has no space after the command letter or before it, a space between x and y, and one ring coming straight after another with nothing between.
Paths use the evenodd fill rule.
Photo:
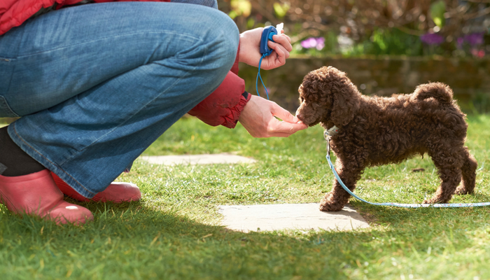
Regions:
<instances>
[{"instance_id":1,"label":"pink rubber boot farther back, partly hidden by the jeans hem","mask_svg":"<svg viewBox=\"0 0 490 280\"><path fill-rule=\"evenodd\" d=\"M138 186L134 185L134 183L120 183L113 182L109 185L105 190L100 193L97 193L92 199L87 197L83 197L73 190L67 183L65 183L62 179L60 179L56 174L52 173L52 178L55 179L55 183L58 186L59 190L62 191L65 195L73 198L73 200L78 200L80 202L132 202L138 201L141 199L141 191Z\"/></svg>"}]
</instances>

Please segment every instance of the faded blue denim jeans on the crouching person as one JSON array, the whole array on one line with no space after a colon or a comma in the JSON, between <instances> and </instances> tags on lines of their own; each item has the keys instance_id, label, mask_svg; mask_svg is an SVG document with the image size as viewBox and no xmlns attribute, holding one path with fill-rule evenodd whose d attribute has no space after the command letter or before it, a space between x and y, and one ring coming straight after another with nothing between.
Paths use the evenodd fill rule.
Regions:
<instances>
[{"instance_id":1,"label":"faded blue denim jeans on the crouching person","mask_svg":"<svg viewBox=\"0 0 490 280\"><path fill-rule=\"evenodd\" d=\"M93 197L220 85L238 43L235 23L207 6L46 13L0 36L0 117L22 116L13 141Z\"/></svg>"}]
</instances>

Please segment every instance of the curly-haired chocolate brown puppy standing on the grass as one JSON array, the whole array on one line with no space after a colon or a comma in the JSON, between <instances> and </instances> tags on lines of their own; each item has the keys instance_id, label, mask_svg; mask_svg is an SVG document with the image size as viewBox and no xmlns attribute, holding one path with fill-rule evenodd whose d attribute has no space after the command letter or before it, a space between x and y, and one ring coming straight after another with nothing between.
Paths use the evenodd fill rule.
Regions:
<instances>
[{"instance_id":1,"label":"curly-haired chocolate brown puppy standing on the grass","mask_svg":"<svg viewBox=\"0 0 490 280\"><path fill-rule=\"evenodd\" d=\"M367 97L344 72L322 67L304 77L299 91L297 118L309 126L339 128L330 145L337 155L335 168L349 190L356 188L366 167L428 153L442 183L423 203L447 203L453 194L473 193L477 162L464 146L465 114L447 85L428 83L412 94ZM320 209L339 211L349 197L334 179Z\"/></svg>"}]
</instances>

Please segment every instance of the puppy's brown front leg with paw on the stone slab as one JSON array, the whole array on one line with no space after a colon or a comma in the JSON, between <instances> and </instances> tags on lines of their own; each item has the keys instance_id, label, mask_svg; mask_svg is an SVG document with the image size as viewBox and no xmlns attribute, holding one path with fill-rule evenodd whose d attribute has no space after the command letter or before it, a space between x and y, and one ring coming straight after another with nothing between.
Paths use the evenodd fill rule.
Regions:
<instances>
[{"instance_id":1,"label":"puppy's brown front leg with paw on the stone slab","mask_svg":"<svg viewBox=\"0 0 490 280\"><path fill-rule=\"evenodd\" d=\"M356 188L356 182L360 179L364 167L354 160L348 160L345 163L337 158L335 161L335 170L339 174L340 179L344 182L349 190ZM333 179L333 189L327 193L320 203L321 211L340 211L344 205L349 202L349 193L347 193L337 179Z\"/></svg>"}]
</instances>

